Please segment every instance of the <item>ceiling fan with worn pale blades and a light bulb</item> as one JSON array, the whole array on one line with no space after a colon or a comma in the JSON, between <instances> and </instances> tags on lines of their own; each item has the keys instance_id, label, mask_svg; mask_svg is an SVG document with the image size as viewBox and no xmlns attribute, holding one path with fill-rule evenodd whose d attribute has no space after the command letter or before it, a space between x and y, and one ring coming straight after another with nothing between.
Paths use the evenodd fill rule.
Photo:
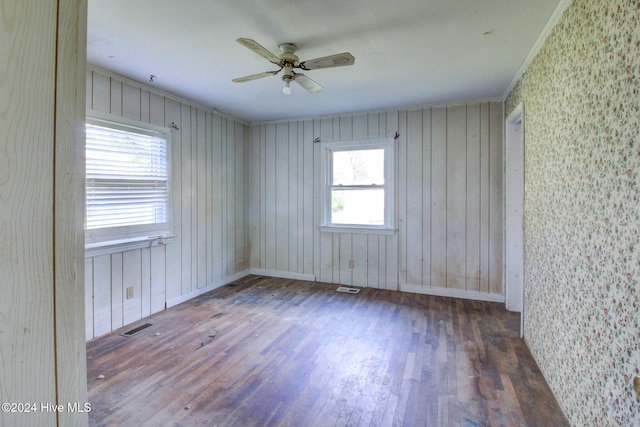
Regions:
<instances>
[{"instance_id":1,"label":"ceiling fan with worn pale blades and a light bulb","mask_svg":"<svg viewBox=\"0 0 640 427\"><path fill-rule=\"evenodd\" d=\"M343 67L345 65L353 65L356 59L349 52L338 53L335 55L323 56L322 58L315 58L308 61L300 61L299 58L295 55L298 47L293 43L282 43L280 47L280 51L282 52L280 56L276 56L264 47L260 45L255 40L239 38L236 40L238 43L243 45L244 47L251 49L258 55L265 58L267 61L272 64L280 67L276 71L265 71L264 73L252 74L250 76L239 77L237 79L233 79L232 81L236 83L244 83L251 80L261 79L262 77L275 76L280 71L284 70L282 74L282 81L284 82L284 86L282 88L282 92L285 94L291 93L291 82L295 81L300 86L305 88L309 93L318 93L322 90L322 86L318 83L305 76L302 73L296 73L293 71L294 68L299 68L301 70L318 70L320 68L331 68L331 67Z\"/></svg>"}]
</instances>

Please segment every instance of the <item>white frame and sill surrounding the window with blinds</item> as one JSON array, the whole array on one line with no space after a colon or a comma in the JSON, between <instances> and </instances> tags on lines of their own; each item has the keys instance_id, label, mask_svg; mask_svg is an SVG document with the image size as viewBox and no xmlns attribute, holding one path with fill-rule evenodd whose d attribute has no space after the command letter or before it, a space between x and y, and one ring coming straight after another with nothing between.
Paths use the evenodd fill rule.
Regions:
<instances>
[{"instance_id":1,"label":"white frame and sill surrounding the window with blinds","mask_svg":"<svg viewBox=\"0 0 640 427\"><path fill-rule=\"evenodd\" d=\"M171 163L171 137L172 132L168 127L161 127L149 123L127 120L122 117L114 117L108 114L100 114L94 111L87 112L86 124L102 126L119 131L144 134L160 137L166 145L166 169L167 169L167 205L166 223L161 224L133 224L120 227L107 227L87 229L87 171L84 171L84 234L85 255L97 256L122 252L138 248L150 247L169 243L173 240L173 192L172 192L172 163ZM86 129L86 128L85 128ZM86 140L85 140L86 141ZM84 147L86 158L86 142Z\"/></svg>"}]
</instances>

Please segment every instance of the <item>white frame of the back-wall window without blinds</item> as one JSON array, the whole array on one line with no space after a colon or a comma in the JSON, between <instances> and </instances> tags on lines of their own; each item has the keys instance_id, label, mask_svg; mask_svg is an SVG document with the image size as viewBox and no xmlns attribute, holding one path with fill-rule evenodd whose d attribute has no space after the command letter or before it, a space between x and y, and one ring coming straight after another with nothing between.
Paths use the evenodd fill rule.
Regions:
<instances>
[{"instance_id":1,"label":"white frame of the back-wall window without blinds","mask_svg":"<svg viewBox=\"0 0 640 427\"><path fill-rule=\"evenodd\" d=\"M323 174L321 224L324 232L394 234L395 226L395 144L393 138L379 138L354 141L322 143L321 170ZM331 222L333 153L357 150L384 150L384 224L342 224ZM350 186L358 187L358 185ZM362 187L371 187L362 185Z\"/></svg>"}]
</instances>

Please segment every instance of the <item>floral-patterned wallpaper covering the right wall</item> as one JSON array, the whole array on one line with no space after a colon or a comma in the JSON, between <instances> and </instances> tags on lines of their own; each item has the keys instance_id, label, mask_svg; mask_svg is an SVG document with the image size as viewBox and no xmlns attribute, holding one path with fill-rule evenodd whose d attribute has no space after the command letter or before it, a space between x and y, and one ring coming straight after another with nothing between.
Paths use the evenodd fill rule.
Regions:
<instances>
[{"instance_id":1,"label":"floral-patterned wallpaper covering the right wall","mask_svg":"<svg viewBox=\"0 0 640 427\"><path fill-rule=\"evenodd\" d=\"M639 426L640 0L574 0L525 128L525 337L572 425Z\"/></svg>"}]
</instances>

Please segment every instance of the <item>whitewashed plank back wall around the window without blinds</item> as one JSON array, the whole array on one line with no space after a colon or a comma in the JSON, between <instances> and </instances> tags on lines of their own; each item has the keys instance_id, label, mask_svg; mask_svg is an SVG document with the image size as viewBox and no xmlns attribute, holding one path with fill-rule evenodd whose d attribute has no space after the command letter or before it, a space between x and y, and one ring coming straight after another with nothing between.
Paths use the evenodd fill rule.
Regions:
<instances>
[{"instance_id":1,"label":"whitewashed plank back wall around the window without blinds","mask_svg":"<svg viewBox=\"0 0 640 427\"><path fill-rule=\"evenodd\" d=\"M251 126L252 271L504 300L502 128L496 102ZM397 233L321 232L322 149L313 140L396 132Z\"/></svg>"}]
</instances>

